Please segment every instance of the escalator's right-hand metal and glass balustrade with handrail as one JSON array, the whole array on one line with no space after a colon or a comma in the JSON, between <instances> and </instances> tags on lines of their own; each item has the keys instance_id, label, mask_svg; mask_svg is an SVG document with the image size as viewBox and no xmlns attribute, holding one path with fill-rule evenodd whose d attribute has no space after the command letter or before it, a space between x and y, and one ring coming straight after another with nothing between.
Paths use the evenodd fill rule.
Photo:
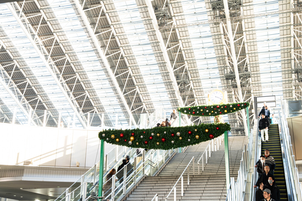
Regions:
<instances>
[{"instance_id":1,"label":"escalator's right-hand metal and glass balustrade with handrail","mask_svg":"<svg viewBox=\"0 0 302 201\"><path fill-rule=\"evenodd\" d=\"M289 200L290 197L293 198L293 200L302 200L302 186L301 182L299 182L299 174L297 171L296 167L296 162L295 162L295 156L293 153L292 149L292 144L291 144L291 136L289 134L289 128L288 128L288 123L285 119L285 110L284 110L284 105L281 103L281 109L283 110L283 114L281 116L280 110L278 110L278 115L280 118L280 126L281 126L281 135L282 135L282 143L281 143L281 148L284 147L284 157L286 157L285 162L285 167L284 167L284 172L285 172L285 177L288 177L288 181L286 182L287 188L289 185L288 189L288 196ZM282 158L283 158L283 153L282 153ZM291 195L289 194L289 191L291 192Z\"/></svg>"}]
</instances>

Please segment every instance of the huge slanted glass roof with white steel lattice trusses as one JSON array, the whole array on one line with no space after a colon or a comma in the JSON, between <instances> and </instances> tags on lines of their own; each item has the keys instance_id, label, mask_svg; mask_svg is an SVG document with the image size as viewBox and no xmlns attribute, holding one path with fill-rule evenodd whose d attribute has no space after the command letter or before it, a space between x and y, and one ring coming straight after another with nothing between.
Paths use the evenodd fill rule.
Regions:
<instances>
[{"instance_id":1,"label":"huge slanted glass roof with white steel lattice trusses","mask_svg":"<svg viewBox=\"0 0 302 201\"><path fill-rule=\"evenodd\" d=\"M229 102L302 96L297 0L25 0L0 10L1 122L137 126L157 108L207 104L217 87ZM237 134L246 118L224 117Z\"/></svg>"}]
</instances>

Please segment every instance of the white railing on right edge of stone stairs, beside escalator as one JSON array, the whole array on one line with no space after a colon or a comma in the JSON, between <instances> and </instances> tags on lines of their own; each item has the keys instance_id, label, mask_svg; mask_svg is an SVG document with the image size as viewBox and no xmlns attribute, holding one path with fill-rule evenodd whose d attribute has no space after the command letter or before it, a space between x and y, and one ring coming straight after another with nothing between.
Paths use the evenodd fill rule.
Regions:
<instances>
[{"instance_id":1,"label":"white railing on right edge of stone stairs, beside escalator","mask_svg":"<svg viewBox=\"0 0 302 201\"><path fill-rule=\"evenodd\" d=\"M253 136L249 137L249 143L244 145L242 152L242 157L240 161L240 166L238 170L237 181L235 182L234 177L231 177L230 186L227 189L227 201L233 200L244 200L245 189L246 189L246 180L249 173L251 158L252 158L252 144Z\"/></svg>"}]
</instances>

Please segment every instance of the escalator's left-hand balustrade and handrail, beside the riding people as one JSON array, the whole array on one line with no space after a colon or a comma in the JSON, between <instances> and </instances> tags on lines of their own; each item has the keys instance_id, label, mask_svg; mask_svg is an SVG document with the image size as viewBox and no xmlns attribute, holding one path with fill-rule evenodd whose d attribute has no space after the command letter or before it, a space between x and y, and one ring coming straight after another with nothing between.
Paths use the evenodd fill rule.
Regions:
<instances>
[{"instance_id":1,"label":"escalator's left-hand balustrade and handrail, beside the riding people","mask_svg":"<svg viewBox=\"0 0 302 201\"><path fill-rule=\"evenodd\" d=\"M255 160L254 160L254 164L257 163L258 159L259 159L259 156L261 154L261 135L260 135L260 132L258 130L259 128L259 119L257 118L257 134L256 134L256 141L255 141ZM256 189L254 188L254 184L256 183L256 181L258 180L258 173L256 171L257 169L254 168L254 171L253 171L253 179L252 179L252 184L251 184L251 193L250 195L250 199L249 200L252 200L254 201L255 200L255 193L256 193Z\"/></svg>"}]
</instances>

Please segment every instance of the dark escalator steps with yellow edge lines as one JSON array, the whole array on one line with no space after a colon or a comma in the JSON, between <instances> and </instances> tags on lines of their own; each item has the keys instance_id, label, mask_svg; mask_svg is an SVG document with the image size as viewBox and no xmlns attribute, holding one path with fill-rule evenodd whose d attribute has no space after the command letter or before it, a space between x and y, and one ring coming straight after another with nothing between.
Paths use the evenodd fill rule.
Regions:
<instances>
[{"instance_id":1,"label":"dark escalator steps with yellow edge lines","mask_svg":"<svg viewBox=\"0 0 302 201\"><path fill-rule=\"evenodd\" d=\"M265 135L265 134L264 134ZM282 152L281 152L281 143L279 135L278 124L271 124L268 130L268 142L262 142L261 144L261 155L264 155L264 150L269 149L270 155L275 159L276 168L274 171L274 177L276 185L280 189L280 198L281 200L288 200L286 182L283 168Z\"/></svg>"}]
</instances>

